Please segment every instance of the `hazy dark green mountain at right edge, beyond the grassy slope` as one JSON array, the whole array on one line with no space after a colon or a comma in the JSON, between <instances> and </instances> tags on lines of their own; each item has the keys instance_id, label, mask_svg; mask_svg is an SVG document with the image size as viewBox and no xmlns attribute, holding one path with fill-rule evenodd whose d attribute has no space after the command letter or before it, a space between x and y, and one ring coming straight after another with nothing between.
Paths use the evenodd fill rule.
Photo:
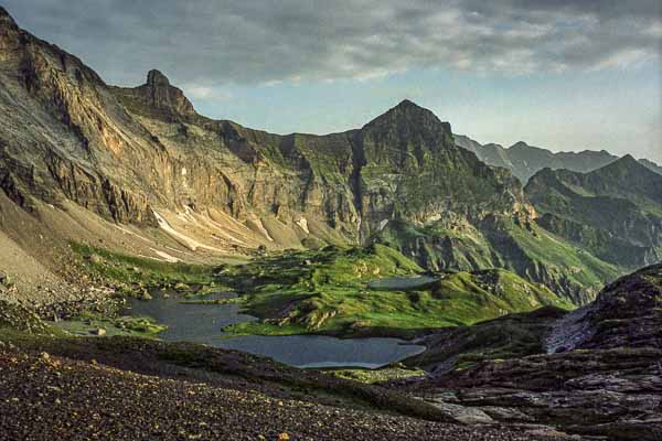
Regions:
<instances>
[{"instance_id":1,"label":"hazy dark green mountain at right edge, beyond the grassy slope","mask_svg":"<svg viewBox=\"0 0 662 441\"><path fill-rule=\"evenodd\" d=\"M546 229L612 263L662 257L662 175L626 155L590 173L544 169L525 187Z\"/></svg>"}]
</instances>

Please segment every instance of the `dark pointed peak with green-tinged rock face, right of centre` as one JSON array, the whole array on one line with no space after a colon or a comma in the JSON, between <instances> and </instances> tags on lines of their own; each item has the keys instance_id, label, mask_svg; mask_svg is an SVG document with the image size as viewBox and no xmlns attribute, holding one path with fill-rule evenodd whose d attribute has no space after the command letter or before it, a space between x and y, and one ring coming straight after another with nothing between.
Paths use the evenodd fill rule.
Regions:
<instances>
[{"instance_id":1,"label":"dark pointed peak with green-tinged rock face, right of centre","mask_svg":"<svg viewBox=\"0 0 662 441\"><path fill-rule=\"evenodd\" d=\"M354 143L360 160L354 192L366 233L395 219L421 225L453 213L479 220L495 211L523 209L522 189L512 176L458 149L450 125L412 101L367 123Z\"/></svg>"}]
</instances>

